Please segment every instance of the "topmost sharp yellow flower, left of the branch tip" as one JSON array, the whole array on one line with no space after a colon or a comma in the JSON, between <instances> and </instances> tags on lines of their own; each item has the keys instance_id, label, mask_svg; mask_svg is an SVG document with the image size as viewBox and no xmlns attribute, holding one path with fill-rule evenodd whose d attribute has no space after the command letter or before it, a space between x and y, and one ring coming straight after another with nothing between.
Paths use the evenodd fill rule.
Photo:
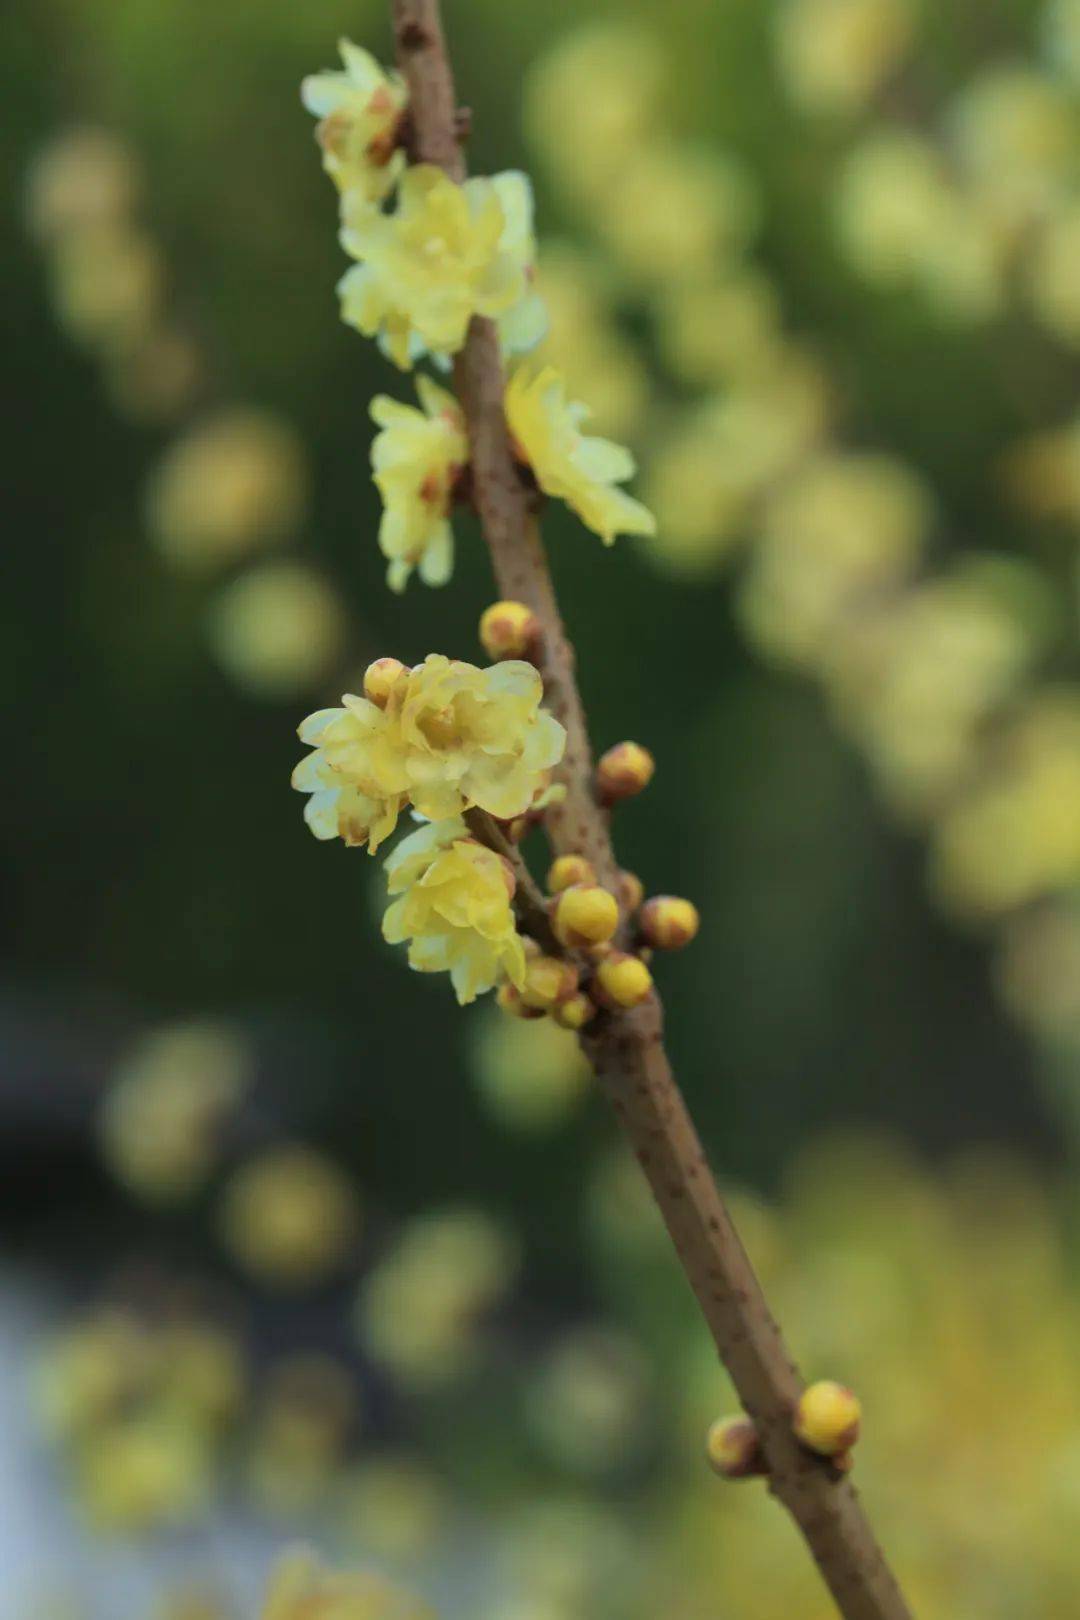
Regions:
<instances>
[{"instance_id":1,"label":"topmost sharp yellow flower, left of the branch tip","mask_svg":"<svg viewBox=\"0 0 1080 1620\"><path fill-rule=\"evenodd\" d=\"M397 136L408 92L397 73L384 73L351 40L342 39L338 50L345 71L313 73L300 94L319 118L316 139L327 175L338 191L371 206L393 190L405 167Z\"/></svg>"}]
</instances>

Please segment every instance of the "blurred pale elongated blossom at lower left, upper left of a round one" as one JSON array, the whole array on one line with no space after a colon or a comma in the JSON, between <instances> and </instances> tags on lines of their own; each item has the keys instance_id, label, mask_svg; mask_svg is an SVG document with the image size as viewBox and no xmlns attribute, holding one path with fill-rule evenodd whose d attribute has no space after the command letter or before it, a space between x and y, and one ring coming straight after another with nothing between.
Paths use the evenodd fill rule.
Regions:
<instances>
[{"instance_id":1,"label":"blurred pale elongated blossom at lower left, upper left of a round one","mask_svg":"<svg viewBox=\"0 0 1080 1620\"><path fill-rule=\"evenodd\" d=\"M248 1053L223 1024L176 1024L141 1040L100 1111L105 1163L139 1197L172 1202L212 1170L248 1084Z\"/></svg>"}]
</instances>

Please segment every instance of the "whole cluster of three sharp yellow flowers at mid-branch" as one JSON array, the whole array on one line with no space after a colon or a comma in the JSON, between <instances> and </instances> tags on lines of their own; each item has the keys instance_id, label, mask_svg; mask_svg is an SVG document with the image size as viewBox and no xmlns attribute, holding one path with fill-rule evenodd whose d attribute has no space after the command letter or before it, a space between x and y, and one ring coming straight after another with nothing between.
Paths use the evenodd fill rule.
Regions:
<instances>
[{"instance_id":1,"label":"whole cluster of three sharp yellow flowers at mid-branch","mask_svg":"<svg viewBox=\"0 0 1080 1620\"><path fill-rule=\"evenodd\" d=\"M461 820L478 807L499 820L525 815L562 758L565 731L541 710L531 664L489 669L431 654L415 669L371 666L371 695L348 693L300 727L314 744L293 771L309 794L304 818L316 838L342 838L374 854L406 805L429 825L387 860L393 897L382 932L408 941L418 972L449 972L460 1003L508 980L525 956L510 865L473 839Z\"/></svg>"}]
</instances>

